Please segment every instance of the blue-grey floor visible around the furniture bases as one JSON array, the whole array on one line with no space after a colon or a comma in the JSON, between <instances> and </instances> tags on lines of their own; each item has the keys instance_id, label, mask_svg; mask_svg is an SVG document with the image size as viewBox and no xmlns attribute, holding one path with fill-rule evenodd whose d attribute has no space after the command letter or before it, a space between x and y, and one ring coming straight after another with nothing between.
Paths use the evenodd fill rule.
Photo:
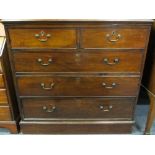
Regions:
<instances>
[{"instance_id":1,"label":"blue-grey floor visible around the furniture bases","mask_svg":"<svg viewBox=\"0 0 155 155\"><path fill-rule=\"evenodd\" d=\"M148 96L142 90L140 93L140 98L138 100L138 104L136 106L136 111L135 111L136 124L133 127L132 134L142 135L144 133L148 110L149 110ZM4 135L4 134L10 134L10 133L9 133L9 131L7 131L5 129L0 129L0 135ZM155 121L154 121L152 129L151 129L151 134L155 135Z\"/></svg>"}]
</instances>

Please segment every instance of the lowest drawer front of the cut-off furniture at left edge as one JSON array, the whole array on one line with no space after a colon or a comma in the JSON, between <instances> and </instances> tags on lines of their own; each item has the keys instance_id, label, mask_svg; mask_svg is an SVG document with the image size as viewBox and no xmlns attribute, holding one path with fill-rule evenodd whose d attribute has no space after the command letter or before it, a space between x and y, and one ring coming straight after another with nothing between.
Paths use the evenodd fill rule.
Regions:
<instances>
[{"instance_id":1,"label":"lowest drawer front of the cut-off furniture at left edge","mask_svg":"<svg viewBox=\"0 0 155 155\"><path fill-rule=\"evenodd\" d=\"M10 121L11 114L8 106L0 106L0 121Z\"/></svg>"}]
</instances>

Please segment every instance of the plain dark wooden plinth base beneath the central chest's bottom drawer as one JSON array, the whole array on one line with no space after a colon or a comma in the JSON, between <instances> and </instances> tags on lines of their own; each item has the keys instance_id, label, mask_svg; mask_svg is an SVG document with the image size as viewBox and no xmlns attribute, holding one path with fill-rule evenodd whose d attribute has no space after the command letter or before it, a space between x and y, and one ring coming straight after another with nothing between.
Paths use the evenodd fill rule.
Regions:
<instances>
[{"instance_id":1,"label":"plain dark wooden plinth base beneath the central chest's bottom drawer","mask_svg":"<svg viewBox=\"0 0 155 155\"><path fill-rule=\"evenodd\" d=\"M24 134L127 134L132 131L132 121L127 122L21 122Z\"/></svg>"}]
</instances>

